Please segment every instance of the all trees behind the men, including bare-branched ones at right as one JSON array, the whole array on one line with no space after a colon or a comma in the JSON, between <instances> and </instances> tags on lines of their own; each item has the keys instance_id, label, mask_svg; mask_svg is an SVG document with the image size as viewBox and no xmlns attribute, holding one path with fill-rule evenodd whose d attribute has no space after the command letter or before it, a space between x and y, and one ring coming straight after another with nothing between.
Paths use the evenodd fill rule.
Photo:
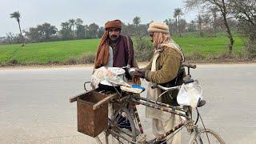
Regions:
<instances>
[{"instance_id":1,"label":"all trees behind the men, including bare-branched ones at right","mask_svg":"<svg viewBox=\"0 0 256 144\"><path fill-rule=\"evenodd\" d=\"M248 41L245 46L252 52L256 51L256 2L255 0L186 0L186 10L199 9L200 14L190 22L182 18L182 9L176 8L172 17L166 18L163 22L170 27L170 34L182 37L186 32L196 32L198 37L215 37L218 31L226 31L230 44L227 46L230 54L234 46L234 34L232 31L240 32L242 37ZM18 22L20 34L6 34L0 38L0 43L22 43L24 42L47 42L70 39L101 38L104 27L96 23L84 25L81 18L71 18L61 22L60 30L50 23L30 27L29 30L22 30L20 26L21 14L17 11L10 14ZM122 33L130 36L147 35L149 23L142 24L140 17L133 18L131 23L122 23ZM256 52L255 52L256 53ZM255 56L256 57L256 56Z\"/></svg>"}]
</instances>

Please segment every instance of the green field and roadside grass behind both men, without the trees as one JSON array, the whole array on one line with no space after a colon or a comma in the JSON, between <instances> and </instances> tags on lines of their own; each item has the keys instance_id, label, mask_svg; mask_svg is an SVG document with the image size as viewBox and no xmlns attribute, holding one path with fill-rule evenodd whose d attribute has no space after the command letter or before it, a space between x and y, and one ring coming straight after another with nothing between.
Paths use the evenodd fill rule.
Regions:
<instances>
[{"instance_id":1,"label":"green field and roadside grass behind both men, without the trees","mask_svg":"<svg viewBox=\"0 0 256 144\"><path fill-rule=\"evenodd\" d=\"M196 38L194 33L184 34L182 38L174 37L187 60L210 62L225 58L240 59L246 57L242 38L234 35L234 52L227 54L226 44L229 39L224 33L218 36ZM11 65L48 65L48 64L82 64L93 63L100 39L81 39L58 42L38 42L26 44L22 49L19 44L0 45L0 62L2 66ZM153 47L148 37L133 37L134 51L138 62L152 58Z\"/></svg>"}]
</instances>

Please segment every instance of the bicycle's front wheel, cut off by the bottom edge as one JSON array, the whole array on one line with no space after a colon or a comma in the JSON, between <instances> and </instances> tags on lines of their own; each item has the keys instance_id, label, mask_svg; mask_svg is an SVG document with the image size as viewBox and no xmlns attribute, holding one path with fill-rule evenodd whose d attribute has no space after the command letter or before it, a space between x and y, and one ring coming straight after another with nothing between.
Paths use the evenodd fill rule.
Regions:
<instances>
[{"instance_id":1,"label":"bicycle's front wheel, cut off by the bottom edge","mask_svg":"<svg viewBox=\"0 0 256 144\"><path fill-rule=\"evenodd\" d=\"M224 140L213 130L200 129L198 133L193 132L190 144L225 144Z\"/></svg>"}]
</instances>

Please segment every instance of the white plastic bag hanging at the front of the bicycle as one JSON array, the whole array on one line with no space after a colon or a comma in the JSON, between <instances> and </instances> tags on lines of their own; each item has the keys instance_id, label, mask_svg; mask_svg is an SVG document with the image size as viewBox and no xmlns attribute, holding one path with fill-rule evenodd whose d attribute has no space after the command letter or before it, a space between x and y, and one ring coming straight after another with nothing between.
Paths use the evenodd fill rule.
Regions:
<instances>
[{"instance_id":1,"label":"white plastic bag hanging at the front of the bicycle","mask_svg":"<svg viewBox=\"0 0 256 144\"><path fill-rule=\"evenodd\" d=\"M196 108L199 98L202 99L202 87L198 86L198 82L191 82L182 85L178 91L177 102L179 105Z\"/></svg>"}]
</instances>

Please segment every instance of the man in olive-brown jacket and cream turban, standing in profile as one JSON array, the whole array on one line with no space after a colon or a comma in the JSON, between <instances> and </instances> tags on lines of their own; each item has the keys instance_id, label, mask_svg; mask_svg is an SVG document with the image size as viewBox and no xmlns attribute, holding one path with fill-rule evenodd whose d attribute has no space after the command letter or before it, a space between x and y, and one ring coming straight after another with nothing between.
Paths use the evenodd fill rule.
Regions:
<instances>
[{"instance_id":1,"label":"man in olive-brown jacket and cream turban, standing in profile","mask_svg":"<svg viewBox=\"0 0 256 144\"><path fill-rule=\"evenodd\" d=\"M158 95L162 94L160 89L151 89L155 83L174 86L177 82L178 72L181 68L184 56L180 47L170 38L169 28L162 22L150 23L148 29L151 41L154 44L154 57L150 64L134 73L135 76L146 78L149 81L146 98L156 101ZM177 94L177 93L175 93ZM173 97L175 94L171 94ZM160 98L160 102L174 105L168 94ZM166 113L161 110L146 107L146 117L152 118L153 132L156 138L161 138L168 130L180 123L177 115ZM159 143L181 143L181 132L166 140L159 140ZM165 142L166 141L166 142Z\"/></svg>"}]
</instances>

